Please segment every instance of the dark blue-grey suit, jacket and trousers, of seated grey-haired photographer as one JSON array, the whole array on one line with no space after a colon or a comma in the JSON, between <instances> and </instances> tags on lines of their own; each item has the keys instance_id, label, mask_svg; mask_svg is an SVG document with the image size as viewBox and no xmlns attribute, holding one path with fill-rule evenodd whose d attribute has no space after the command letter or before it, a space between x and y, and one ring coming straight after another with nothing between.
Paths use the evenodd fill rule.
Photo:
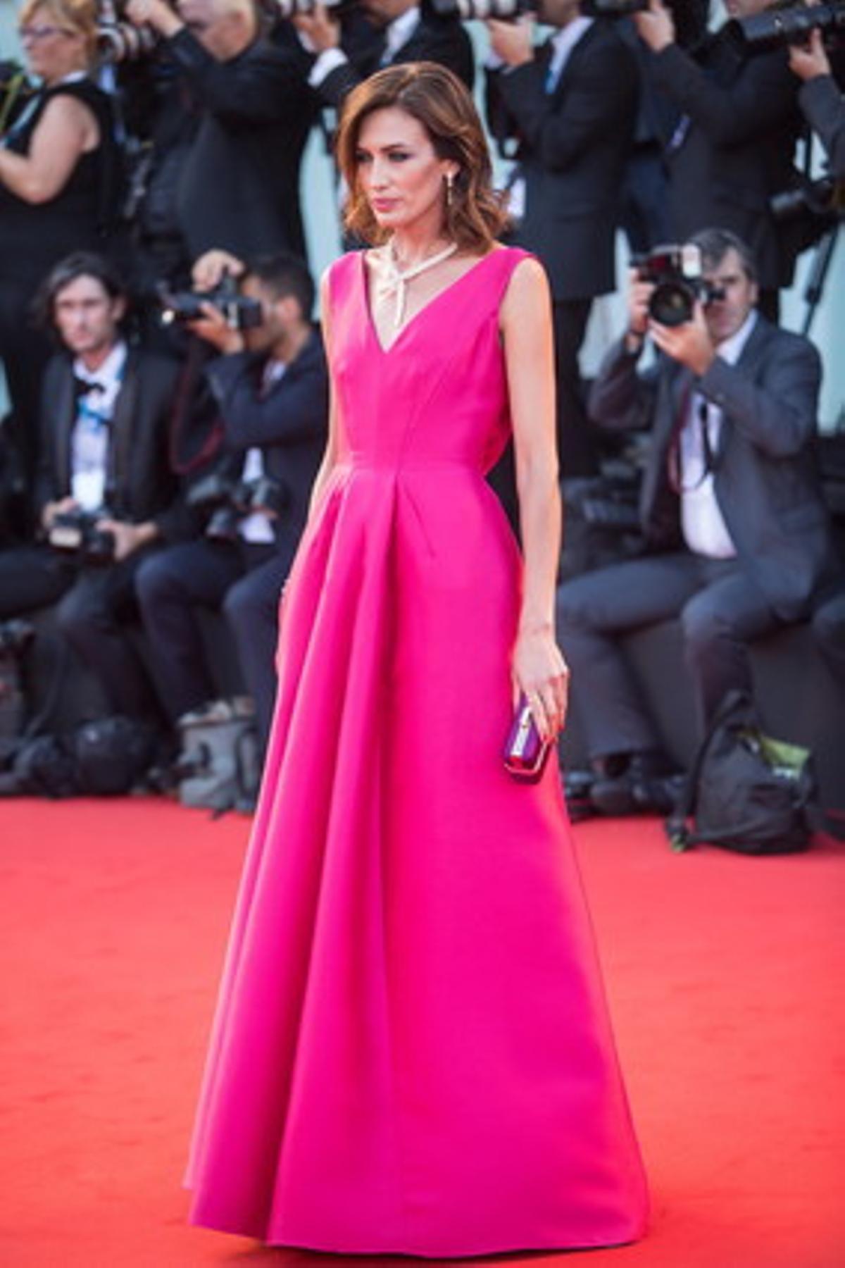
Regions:
<instances>
[{"instance_id":1,"label":"dark blue-grey suit, jacket and trousers, of seated grey-haired photographer","mask_svg":"<svg viewBox=\"0 0 845 1268\"><path fill-rule=\"evenodd\" d=\"M679 498L669 483L668 454L693 377L666 359L640 377L623 345L608 353L590 412L606 426L651 422L641 517L651 547L666 553L578 577L559 591L559 634L574 690L585 691L590 756L655 747L618 634L680 615L703 723L730 687L750 687L746 643L807 615L835 574L813 451L820 379L812 344L758 316L739 363L717 356L696 384L723 411L713 491L736 549L734 559L709 559L678 549Z\"/></svg>"}]
</instances>

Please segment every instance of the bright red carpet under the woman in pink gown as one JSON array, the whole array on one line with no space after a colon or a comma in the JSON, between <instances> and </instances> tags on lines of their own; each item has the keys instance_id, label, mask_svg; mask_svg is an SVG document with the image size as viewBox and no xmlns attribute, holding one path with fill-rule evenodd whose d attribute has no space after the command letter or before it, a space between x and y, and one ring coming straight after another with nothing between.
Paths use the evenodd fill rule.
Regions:
<instances>
[{"instance_id":1,"label":"bright red carpet under the woman in pink gown","mask_svg":"<svg viewBox=\"0 0 845 1268\"><path fill-rule=\"evenodd\" d=\"M247 827L155 800L0 804L4 1268L361 1264L185 1224ZM841 1268L845 850L678 857L650 820L576 839L654 1227L522 1259Z\"/></svg>"}]
</instances>

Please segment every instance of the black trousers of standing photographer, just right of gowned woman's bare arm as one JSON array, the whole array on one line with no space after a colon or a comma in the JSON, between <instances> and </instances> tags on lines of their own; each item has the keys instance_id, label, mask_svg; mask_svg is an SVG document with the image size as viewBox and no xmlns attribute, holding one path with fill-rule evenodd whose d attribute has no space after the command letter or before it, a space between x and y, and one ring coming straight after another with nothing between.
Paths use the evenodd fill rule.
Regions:
<instances>
[{"instance_id":1,"label":"black trousers of standing photographer, just right of gowned woman's bare arm","mask_svg":"<svg viewBox=\"0 0 845 1268\"><path fill-rule=\"evenodd\" d=\"M560 474L594 476L598 463L592 424L584 406L578 354L584 342L592 299L561 299L552 306L555 325L555 382L557 388L557 454Z\"/></svg>"}]
</instances>

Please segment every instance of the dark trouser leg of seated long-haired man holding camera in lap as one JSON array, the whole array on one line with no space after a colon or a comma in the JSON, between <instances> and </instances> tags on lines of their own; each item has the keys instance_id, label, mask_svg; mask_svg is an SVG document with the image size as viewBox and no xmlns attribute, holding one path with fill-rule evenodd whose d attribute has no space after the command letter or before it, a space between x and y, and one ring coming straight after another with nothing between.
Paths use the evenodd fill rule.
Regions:
<instances>
[{"instance_id":1,"label":"dark trouser leg of seated long-haired man holding camera in lap","mask_svg":"<svg viewBox=\"0 0 845 1268\"><path fill-rule=\"evenodd\" d=\"M105 568L82 568L56 609L61 634L99 680L109 706L156 724L156 692L128 623L137 616L136 574L157 549L134 550Z\"/></svg>"}]
</instances>

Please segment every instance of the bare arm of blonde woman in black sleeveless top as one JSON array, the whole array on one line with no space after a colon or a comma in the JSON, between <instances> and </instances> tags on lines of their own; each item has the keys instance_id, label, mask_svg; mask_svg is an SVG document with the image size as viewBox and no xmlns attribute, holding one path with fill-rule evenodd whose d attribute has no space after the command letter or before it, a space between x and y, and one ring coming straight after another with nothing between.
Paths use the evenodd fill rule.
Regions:
<instances>
[{"instance_id":1,"label":"bare arm of blonde woman in black sleeveless top","mask_svg":"<svg viewBox=\"0 0 845 1268\"><path fill-rule=\"evenodd\" d=\"M99 143L94 114L82 101L61 94L47 103L28 155L0 150L0 180L25 203L48 203L62 191L81 155Z\"/></svg>"}]
</instances>

